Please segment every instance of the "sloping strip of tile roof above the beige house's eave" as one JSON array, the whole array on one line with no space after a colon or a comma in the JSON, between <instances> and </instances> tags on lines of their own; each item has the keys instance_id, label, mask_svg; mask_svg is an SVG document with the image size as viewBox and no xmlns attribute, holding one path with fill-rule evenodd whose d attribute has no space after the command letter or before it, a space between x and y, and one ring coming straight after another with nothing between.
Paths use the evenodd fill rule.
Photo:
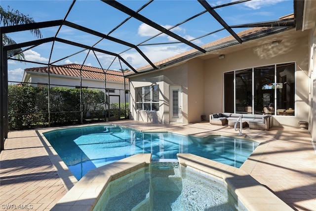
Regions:
<instances>
[{"instance_id":1,"label":"sloping strip of tile roof above the beige house's eave","mask_svg":"<svg viewBox=\"0 0 316 211\"><path fill-rule=\"evenodd\" d=\"M282 20L282 19L288 19L288 18L294 18L294 14L285 15L285 16L280 17L279 19ZM250 36L259 36L260 34L264 33L265 31L270 31L271 29L272 29L272 27L254 27L254 28L250 28L250 29L244 30L242 32L239 32L239 33L237 33L237 35L239 38L247 38ZM228 37L225 37L225 38L213 41L213 42L206 43L200 47L203 49L207 49L207 48L210 48L212 46L223 45L224 43L229 43L229 42L234 42L234 41L236 41L236 39L232 35L230 35ZM192 50L180 53L178 55L172 56L170 58L155 62L154 64L155 64L155 66L159 67L167 62L177 60L181 57L184 57L184 56L190 55L192 53L196 53L196 52L198 52L197 49L192 49ZM141 72L145 72L146 70L149 70L149 69L152 69L151 65L147 65L147 66L138 68L137 71L141 73ZM132 73L131 71L128 71L128 75L130 75L131 73Z\"/></svg>"}]
</instances>

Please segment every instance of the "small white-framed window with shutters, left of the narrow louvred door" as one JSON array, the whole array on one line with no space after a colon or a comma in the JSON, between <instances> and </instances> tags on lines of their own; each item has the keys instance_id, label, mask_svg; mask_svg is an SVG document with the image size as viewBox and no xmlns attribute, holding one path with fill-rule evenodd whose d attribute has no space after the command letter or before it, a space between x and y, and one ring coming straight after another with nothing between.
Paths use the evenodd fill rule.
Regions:
<instances>
[{"instance_id":1,"label":"small white-framed window with shutters, left of the narrow louvred door","mask_svg":"<svg viewBox=\"0 0 316 211\"><path fill-rule=\"evenodd\" d=\"M159 85L136 87L136 109L159 111Z\"/></svg>"}]
</instances>

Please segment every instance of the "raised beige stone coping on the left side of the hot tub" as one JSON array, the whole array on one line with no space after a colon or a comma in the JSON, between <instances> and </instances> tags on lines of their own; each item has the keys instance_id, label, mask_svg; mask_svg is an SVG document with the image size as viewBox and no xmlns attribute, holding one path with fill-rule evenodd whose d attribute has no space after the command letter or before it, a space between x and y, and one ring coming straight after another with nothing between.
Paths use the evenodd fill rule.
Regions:
<instances>
[{"instance_id":1,"label":"raised beige stone coping on the left side of the hot tub","mask_svg":"<svg viewBox=\"0 0 316 211\"><path fill-rule=\"evenodd\" d=\"M136 154L88 171L51 211L92 211L111 181L149 166L151 158L150 153Z\"/></svg>"}]
</instances>

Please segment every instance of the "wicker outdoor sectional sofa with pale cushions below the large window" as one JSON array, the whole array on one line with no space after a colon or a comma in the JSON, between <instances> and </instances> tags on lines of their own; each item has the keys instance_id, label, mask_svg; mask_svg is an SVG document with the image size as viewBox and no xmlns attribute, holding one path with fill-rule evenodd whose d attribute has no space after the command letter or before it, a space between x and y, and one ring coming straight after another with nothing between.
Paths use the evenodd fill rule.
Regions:
<instances>
[{"instance_id":1,"label":"wicker outdoor sectional sofa with pale cushions below the large window","mask_svg":"<svg viewBox=\"0 0 316 211\"><path fill-rule=\"evenodd\" d=\"M210 115L210 124L234 127L238 117L241 117L242 127L250 129L268 130L271 125L271 117L269 114L233 114L233 113L218 113ZM240 123L237 123L237 127Z\"/></svg>"}]
</instances>

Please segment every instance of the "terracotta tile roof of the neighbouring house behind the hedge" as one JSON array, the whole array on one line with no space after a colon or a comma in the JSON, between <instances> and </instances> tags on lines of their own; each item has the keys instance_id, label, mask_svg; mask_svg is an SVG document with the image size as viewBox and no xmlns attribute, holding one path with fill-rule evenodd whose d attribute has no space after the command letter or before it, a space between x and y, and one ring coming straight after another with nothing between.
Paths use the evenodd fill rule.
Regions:
<instances>
[{"instance_id":1,"label":"terracotta tile roof of the neighbouring house behind the hedge","mask_svg":"<svg viewBox=\"0 0 316 211\"><path fill-rule=\"evenodd\" d=\"M64 75L64 76L73 76L80 77L80 64L66 64L60 66L50 66L49 71L50 74L56 75ZM26 68L26 72L38 72L38 73L48 73L48 66L45 67L34 67L34 68ZM123 73L120 71L114 70L102 70L97 67L90 66L82 66L81 76L82 78L87 79L97 79L104 80L104 72L106 72L106 80L113 82L123 82L124 77ZM125 79L125 83L128 83L128 79Z\"/></svg>"}]
</instances>

